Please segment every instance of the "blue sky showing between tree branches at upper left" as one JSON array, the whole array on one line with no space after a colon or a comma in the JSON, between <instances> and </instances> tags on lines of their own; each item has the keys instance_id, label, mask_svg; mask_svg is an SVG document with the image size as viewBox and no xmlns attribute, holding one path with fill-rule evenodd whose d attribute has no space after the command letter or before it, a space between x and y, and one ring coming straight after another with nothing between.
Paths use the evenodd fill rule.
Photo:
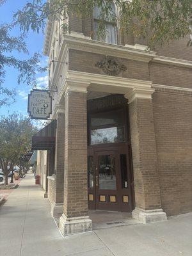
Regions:
<instances>
[{"instance_id":1,"label":"blue sky showing between tree branches at upper left","mask_svg":"<svg viewBox=\"0 0 192 256\"><path fill-rule=\"evenodd\" d=\"M21 9L24 6L27 0L7 0L3 6L0 6L0 24L11 22L13 13ZM20 31L18 28L12 31L12 35L18 36ZM29 55L27 54L14 54L21 59L28 59L30 56L33 56L34 52L39 52L42 54L43 45L44 45L44 35L42 33L37 34L33 32L28 33L28 38L26 38L26 43L28 45ZM42 56L40 65L45 67L47 65L47 57ZM27 84L17 84L17 75L18 72L14 68L6 68L6 77L4 81L4 86L12 89L16 88L17 95L15 97L15 103L10 106L2 106L0 108L0 115L8 115L14 111L22 113L22 115L28 115L28 93L31 90L31 86ZM47 72L43 74L36 74L36 79L38 86L47 86Z\"/></svg>"}]
</instances>

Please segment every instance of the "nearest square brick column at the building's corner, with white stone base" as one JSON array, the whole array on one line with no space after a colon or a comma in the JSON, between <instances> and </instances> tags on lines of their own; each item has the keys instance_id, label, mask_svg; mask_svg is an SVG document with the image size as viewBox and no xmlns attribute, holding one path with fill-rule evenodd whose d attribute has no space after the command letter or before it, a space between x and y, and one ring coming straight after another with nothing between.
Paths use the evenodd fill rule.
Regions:
<instances>
[{"instance_id":1,"label":"nearest square brick column at the building's corner, with white stone base","mask_svg":"<svg viewBox=\"0 0 192 256\"><path fill-rule=\"evenodd\" d=\"M68 86L65 92L64 205L60 218L63 236L92 230L88 217L86 87Z\"/></svg>"}]
</instances>

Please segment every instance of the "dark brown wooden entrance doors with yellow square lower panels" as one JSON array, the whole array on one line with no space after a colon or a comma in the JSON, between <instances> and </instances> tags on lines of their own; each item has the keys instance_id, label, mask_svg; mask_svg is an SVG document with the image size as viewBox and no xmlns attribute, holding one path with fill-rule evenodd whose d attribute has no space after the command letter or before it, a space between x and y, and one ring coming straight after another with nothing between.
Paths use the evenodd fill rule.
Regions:
<instances>
[{"instance_id":1,"label":"dark brown wooden entrance doors with yellow square lower panels","mask_svg":"<svg viewBox=\"0 0 192 256\"><path fill-rule=\"evenodd\" d=\"M127 143L88 147L88 207L131 212L131 154Z\"/></svg>"}]
</instances>

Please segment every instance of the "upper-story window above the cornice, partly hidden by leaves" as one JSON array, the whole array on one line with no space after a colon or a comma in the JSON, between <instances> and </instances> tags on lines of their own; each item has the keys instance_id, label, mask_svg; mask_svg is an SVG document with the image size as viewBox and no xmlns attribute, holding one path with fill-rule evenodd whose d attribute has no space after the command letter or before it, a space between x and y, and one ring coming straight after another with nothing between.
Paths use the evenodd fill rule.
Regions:
<instances>
[{"instance_id":1,"label":"upper-story window above the cornice, partly hidden by leaves","mask_svg":"<svg viewBox=\"0 0 192 256\"><path fill-rule=\"evenodd\" d=\"M116 22L113 21L113 17L115 17L115 4L111 6L111 15L107 19L102 16L102 8L99 6L95 6L93 10L93 30L94 30L94 40L99 40L102 42L106 42L109 44L117 44L117 30L116 30ZM98 33L100 20L104 19L104 23L102 26L105 27L106 33L105 35L100 35Z\"/></svg>"}]
</instances>

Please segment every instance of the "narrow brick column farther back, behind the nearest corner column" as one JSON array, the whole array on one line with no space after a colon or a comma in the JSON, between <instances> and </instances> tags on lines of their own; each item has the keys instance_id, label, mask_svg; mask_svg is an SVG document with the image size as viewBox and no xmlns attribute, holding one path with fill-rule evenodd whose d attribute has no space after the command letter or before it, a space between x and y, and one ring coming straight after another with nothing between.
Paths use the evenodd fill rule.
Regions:
<instances>
[{"instance_id":1,"label":"narrow brick column farther back, behind the nearest corner column","mask_svg":"<svg viewBox=\"0 0 192 256\"><path fill-rule=\"evenodd\" d=\"M51 204L52 216L61 216L63 213L63 180L64 180L64 155L65 155L65 112L64 106L56 111L56 145L54 161L54 191Z\"/></svg>"}]
</instances>

